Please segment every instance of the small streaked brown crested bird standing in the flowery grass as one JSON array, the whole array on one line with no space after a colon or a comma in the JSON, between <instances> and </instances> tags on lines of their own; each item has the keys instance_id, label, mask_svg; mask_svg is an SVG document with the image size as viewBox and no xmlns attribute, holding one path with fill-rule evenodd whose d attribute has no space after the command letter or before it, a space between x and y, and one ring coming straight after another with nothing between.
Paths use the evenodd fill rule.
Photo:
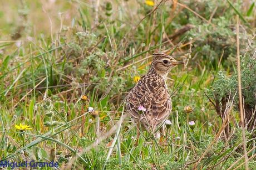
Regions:
<instances>
[{"instance_id":1,"label":"small streaked brown crested bird standing in the flowery grass","mask_svg":"<svg viewBox=\"0 0 256 170\"><path fill-rule=\"evenodd\" d=\"M141 77L126 97L126 111L146 131L152 132L156 138L165 135L164 123L168 119L172 106L168 88L165 83L169 71L183 61L177 61L170 55L155 53L148 73Z\"/></svg>"}]
</instances>

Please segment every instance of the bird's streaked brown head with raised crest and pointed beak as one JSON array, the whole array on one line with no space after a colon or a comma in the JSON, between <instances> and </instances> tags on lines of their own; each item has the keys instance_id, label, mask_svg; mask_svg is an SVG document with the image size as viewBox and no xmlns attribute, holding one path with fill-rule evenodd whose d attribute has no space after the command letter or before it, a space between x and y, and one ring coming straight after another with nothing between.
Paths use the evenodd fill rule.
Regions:
<instances>
[{"instance_id":1,"label":"bird's streaked brown head with raised crest and pointed beak","mask_svg":"<svg viewBox=\"0 0 256 170\"><path fill-rule=\"evenodd\" d=\"M183 61L177 61L170 55L164 53L153 54L150 70L154 69L157 74L167 76L169 71L179 64L184 64Z\"/></svg>"}]
</instances>

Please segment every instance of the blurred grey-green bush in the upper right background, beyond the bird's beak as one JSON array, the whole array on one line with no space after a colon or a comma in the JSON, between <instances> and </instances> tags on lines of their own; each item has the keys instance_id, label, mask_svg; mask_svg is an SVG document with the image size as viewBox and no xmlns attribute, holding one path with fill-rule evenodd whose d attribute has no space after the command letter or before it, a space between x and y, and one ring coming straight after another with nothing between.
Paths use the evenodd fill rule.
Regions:
<instances>
[{"instance_id":1,"label":"blurred grey-green bush in the upper right background, beyond the bird's beak","mask_svg":"<svg viewBox=\"0 0 256 170\"><path fill-rule=\"evenodd\" d=\"M239 3L233 4L238 9ZM187 16L187 22L193 25L198 25L194 29L191 29L187 34L188 37L195 38L193 43L192 57L203 58L205 61L214 62L213 65L217 65L221 55L223 64L230 66L235 61L236 56L236 33L234 16L235 11L230 7L227 1L189 1L187 3L193 11L199 13L206 20L211 17L210 23L203 21L198 17L194 17L193 13L182 13L181 15ZM216 12L214 12L216 8ZM214 15L213 15L214 14ZM211 16L213 15L213 16ZM199 25L199 23L201 23ZM240 25L240 53L245 54L245 48L248 45L248 40L252 39L252 35L245 30L243 25ZM253 53L255 44L252 45L249 52Z\"/></svg>"}]
</instances>

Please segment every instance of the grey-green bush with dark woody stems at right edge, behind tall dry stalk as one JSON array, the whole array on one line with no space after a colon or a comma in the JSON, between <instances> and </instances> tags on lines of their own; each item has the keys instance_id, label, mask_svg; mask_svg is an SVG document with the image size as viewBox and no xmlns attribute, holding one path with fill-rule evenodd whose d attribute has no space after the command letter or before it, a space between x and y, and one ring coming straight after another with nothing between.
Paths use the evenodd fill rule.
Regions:
<instances>
[{"instance_id":1,"label":"grey-green bush with dark woody stems at right edge, behind tall dry stalk","mask_svg":"<svg viewBox=\"0 0 256 170\"><path fill-rule=\"evenodd\" d=\"M245 122L248 130L255 128L256 106L256 59L255 56L243 56L241 60L242 96L245 112ZM234 108L239 111L238 75L233 73L227 76L224 71L219 71L210 90L210 96L215 101L215 109L222 119L228 102L234 99Z\"/></svg>"}]
</instances>

